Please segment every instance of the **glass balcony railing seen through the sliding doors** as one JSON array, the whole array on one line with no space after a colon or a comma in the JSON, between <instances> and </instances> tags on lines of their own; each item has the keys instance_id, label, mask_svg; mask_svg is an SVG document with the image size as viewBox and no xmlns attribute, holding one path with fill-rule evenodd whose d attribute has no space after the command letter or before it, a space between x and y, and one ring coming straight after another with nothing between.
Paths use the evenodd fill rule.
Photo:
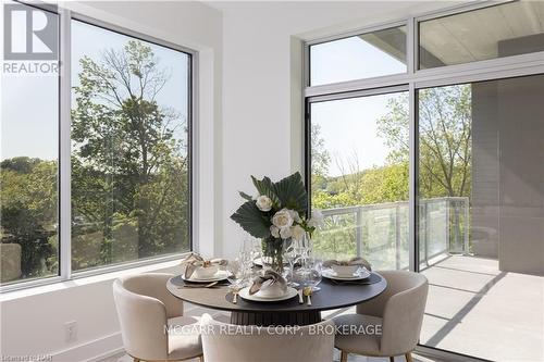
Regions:
<instances>
[{"instance_id":1,"label":"glass balcony railing seen through the sliding doors","mask_svg":"<svg viewBox=\"0 0 544 362\"><path fill-rule=\"evenodd\" d=\"M313 236L316 254L323 259L359 255L374 269L407 269L408 211L408 201L322 210L324 226ZM468 221L467 197L420 199L420 263L429 264L444 253L468 253Z\"/></svg>"}]
</instances>

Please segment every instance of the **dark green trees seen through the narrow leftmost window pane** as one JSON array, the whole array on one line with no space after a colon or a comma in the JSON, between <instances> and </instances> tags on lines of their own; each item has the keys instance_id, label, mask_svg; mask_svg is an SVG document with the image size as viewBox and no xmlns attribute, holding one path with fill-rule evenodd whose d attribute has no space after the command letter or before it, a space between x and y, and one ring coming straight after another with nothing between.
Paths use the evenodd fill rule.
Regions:
<instances>
[{"instance_id":1,"label":"dark green trees seen through the narrow leftmost window pane","mask_svg":"<svg viewBox=\"0 0 544 362\"><path fill-rule=\"evenodd\" d=\"M0 185L1 242L21 246L22 277L57 273L57 162L3 160Z\"/></svg>"}]
</instances>

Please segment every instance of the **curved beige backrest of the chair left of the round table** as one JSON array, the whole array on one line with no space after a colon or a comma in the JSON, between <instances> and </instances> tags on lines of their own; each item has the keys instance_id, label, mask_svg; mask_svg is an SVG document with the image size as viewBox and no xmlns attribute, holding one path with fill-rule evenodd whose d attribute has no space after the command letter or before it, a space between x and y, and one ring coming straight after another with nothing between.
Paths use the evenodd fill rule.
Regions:
<instances>
[{"instance_id":1,"label":"curved beige backrest of the chair left of the round table","mask_svg":"<svg viewBox=\"0 0 544 362\"><path fill-rule=\"evenodd\" d=\"M140 360L165 360L168 319L183 314L183 302L166 289L173 275L148 273L116 279L113 298L125 350Z\"/></svg>"}]
</instances>

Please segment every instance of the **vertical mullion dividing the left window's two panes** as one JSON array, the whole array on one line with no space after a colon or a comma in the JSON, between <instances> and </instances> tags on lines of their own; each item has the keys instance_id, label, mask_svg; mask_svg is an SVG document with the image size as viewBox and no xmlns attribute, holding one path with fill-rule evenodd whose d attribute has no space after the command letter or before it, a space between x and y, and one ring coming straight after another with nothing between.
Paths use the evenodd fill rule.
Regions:
<instances>
[{"instance_id":1,"label":"vertical mullion dividing the left window's two panes","mask_svg":"<svg viewBox=\"0 0 544 362\"><path fill-rule=\"evenodd\" d=\"M60 274L72 275L70 10L60 9Z\"/></svg>"}]
</instances>

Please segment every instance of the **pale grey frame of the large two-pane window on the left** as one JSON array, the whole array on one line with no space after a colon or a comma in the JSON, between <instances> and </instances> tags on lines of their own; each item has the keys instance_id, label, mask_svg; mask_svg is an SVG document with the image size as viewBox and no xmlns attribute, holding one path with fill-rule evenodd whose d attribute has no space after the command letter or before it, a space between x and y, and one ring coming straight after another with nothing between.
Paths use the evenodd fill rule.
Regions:
<instances>
[{"instance_id":1,"label":"pale grey frame of the large two-pane window on the left","mask_svg":"<svg viewBox=\"0 0 544 362\"><path fill-rule=\"evenodd\" d=\"M18 3L33 7L39 10L49 11L59 15L59 143L58 143L58 220L59 220L59 271L57 275L36 277L32 279L18 279L0 285L0 292L34 288L42 285L62 283L77 278L89 277L106 273L118 272L122 270L164 263L178 260L194 251L198 246L195 240L197 230L197 210L198 203L195 198L197 195L196 182L196 160L198 159L195 137L198 134L198 59L197 50L159 39L153 36L133 30L127 27L114 25L108 22L97 20L91 16L71 11L65 8L45 4L28 3L17 1ZM188 55L188 104L187 104L187 158L188 158L188 213L189 213L189 250L182 252L168 253L159 257L150 257L135 261L115 263L92 267L88 270L72 271L72 205L71 205L71 111L72 111L72 74L71 74L71 24L72 21L79 21L106 30L114 32L121 35L132 37L178 51ZM64 221L69 222L64 222Z\"/></svg>"}]
</instances>

